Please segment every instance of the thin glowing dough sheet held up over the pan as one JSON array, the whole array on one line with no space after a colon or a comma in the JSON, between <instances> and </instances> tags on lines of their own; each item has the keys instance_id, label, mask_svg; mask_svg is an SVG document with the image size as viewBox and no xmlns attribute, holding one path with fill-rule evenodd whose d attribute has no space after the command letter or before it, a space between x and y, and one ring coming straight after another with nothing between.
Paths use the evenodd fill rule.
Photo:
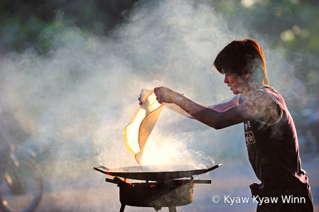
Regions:
<instances>
[{"instance_id":1,"label":"thin glowing dough sheet held up over the pan","mask_svg":"<svg viewBox=\"0 0 319 212\"><path fill-rule=\"evenodd\" d=\"M145 89L141 91L141 101L142 105L123 130L125 145L135 155L135 159L139 164L141 164L148 137L151 135L151 131L164 105L158 103L154 91Z\"/></svg>"}]
</instances>

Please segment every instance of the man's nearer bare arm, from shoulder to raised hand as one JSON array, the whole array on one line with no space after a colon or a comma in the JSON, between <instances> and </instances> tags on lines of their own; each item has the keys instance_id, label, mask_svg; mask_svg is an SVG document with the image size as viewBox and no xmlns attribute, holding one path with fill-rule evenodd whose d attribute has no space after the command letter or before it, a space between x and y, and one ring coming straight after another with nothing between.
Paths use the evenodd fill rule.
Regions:
<instances>
[{"instance_id":1,"label":"man's nearer bare arm, from shoulder to raised hand","mask_svg":"<svg viewBox=\"0 0 319 212\"><path fill-rule=\"evenodd\" d=\"M154 91L159 102L173 103L178 95L177 92L165 87L156 88ZM227 128L231 125L248 121L252 117L259 118L259 120L274 121L279 116L278 113L276 113L276 104L274 104L269 94L265 92L253 93L242 104L232 106L232 104L229 103L231 107L227 108L227 106L225 106L225 108L227 108L225 111L222 111L222 106L215 106L215 108L219 108L220 110L217 111L214 107L209 108L198 104L185 96L180 100L178 106L196 120L215 129ZM266 108L274 108L275 112L267 114L265 113Z\"/></svg>"}]
</instances>

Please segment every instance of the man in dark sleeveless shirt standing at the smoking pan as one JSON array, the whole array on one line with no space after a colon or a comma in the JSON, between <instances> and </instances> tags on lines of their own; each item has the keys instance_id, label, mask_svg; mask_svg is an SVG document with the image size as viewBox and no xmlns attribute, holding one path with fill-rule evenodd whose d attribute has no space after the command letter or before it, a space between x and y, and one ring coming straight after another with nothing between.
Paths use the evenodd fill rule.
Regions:
<instances>
[{"instance_id":1,"label":"man in dark sleeveless shirt standing at the smoking pan","mask_svg":"<svg viewBox=\"0 0 319 212\"><path fill-rule=\"evenodd\" d=\"M261 181L250 186L252 196L278 198L278 203L258 204L257 211L313 211L308 177L301 169L296 128L285 101L268 85L259 45L254 40L233 40L217 55L214 66L225 74L225 84L236 95L231 101L208 107L166 87L157 87L158 102L176 104L215 129L244 123L249 162ZM298 197L301 203L287 203L289 197Z\"/></svg>"}]
</instances>

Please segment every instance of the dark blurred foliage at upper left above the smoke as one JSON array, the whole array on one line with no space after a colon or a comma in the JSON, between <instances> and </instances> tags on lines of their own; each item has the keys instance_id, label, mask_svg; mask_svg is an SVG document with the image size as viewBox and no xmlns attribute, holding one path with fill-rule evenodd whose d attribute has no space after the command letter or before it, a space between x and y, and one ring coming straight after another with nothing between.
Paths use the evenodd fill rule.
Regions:
<instances>
[{"instance_id":1,"label":"dark blurred foliage at upper left above the smoke","mask_svg":"<svg viewBox=\"0 0 319 212\"><path fill-rule=\"evenodd\" d=\"M1 0L0 53L23 51L38 42L43 28L50 26L58 10L65 11L83 31L107 34L124 18L135 0Z\"/></svg>"}]
</instances>

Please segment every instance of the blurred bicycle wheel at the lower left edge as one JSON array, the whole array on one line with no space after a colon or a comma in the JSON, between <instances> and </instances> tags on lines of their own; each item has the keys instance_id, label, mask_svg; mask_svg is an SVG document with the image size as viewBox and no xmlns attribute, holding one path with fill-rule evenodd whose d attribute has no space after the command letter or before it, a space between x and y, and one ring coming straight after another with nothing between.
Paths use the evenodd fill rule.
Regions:
<instances>
[{"instance_id":1,"label":"blurred bicycle wheel at the lower left edge","mask_svg":"<svg viewBox=\"0 0 319 212\"><path fill-rule=\"evenodd\" d=\"M31 212L40 203L43 193L40 167L31 158L18 159L18 162L18 167L11 164L7 172L9 178L1 182L0 211Z\"/></svg>"}]
</instances>

